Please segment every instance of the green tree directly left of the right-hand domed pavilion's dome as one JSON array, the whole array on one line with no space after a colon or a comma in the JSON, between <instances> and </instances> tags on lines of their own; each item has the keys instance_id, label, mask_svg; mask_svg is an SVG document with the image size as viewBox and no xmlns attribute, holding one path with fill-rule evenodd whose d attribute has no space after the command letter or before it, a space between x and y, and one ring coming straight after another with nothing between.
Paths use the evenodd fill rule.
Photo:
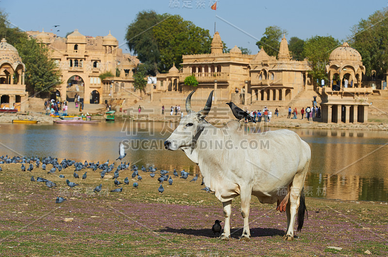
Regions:
<instances>
[{"instance_id":1,"label":"green tree directly left of the right-hand domed pavilion's dome","mask_svg":"<svg viewBox=\"0 0 388 257\"><path fill-rule=\"evenodd\" d=\"M324 79L328 82L324 68L329 64L329 55L339 45L339 41L332 36L313 36L305 41L302 54L307 57L313 82Z\"/></svg>"}]
</instances>

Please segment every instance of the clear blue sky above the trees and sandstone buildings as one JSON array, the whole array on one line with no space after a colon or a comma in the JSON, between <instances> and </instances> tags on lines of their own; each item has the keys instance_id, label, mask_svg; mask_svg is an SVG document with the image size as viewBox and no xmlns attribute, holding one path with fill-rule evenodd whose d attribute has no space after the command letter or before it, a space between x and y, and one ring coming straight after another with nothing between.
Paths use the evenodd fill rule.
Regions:
<instances>
[{"instance_id":1,"label":"clear blue sky above the trees and sandstone buildings","mask_svg":"<svg viewBox=\"0 0 388 257\"><path fill-rule=\"evenodd\" d=\"M9 21L22 30L42 30L57 34L78 29L84 35L107 35L118 39L124 52L127 26L142 10L178 14L195 25L216 30L228 48L234 45L258 52L256 42L267 26L276 25L288 31L287 38L306 39L313 35L332 35L343 41L352 26L368 18L376 10L387 7L388 0L316 1L316 0L219 0L216 11L210 9L214 0L0 0L0 8L9 14ZM191 5L191 6L190 6ZM216 17L216 15L218 17ZM236 28L237 27L237 28ZM52 31L50 31L52 29ZM244 32L242 32L244 31ZM247 35L249 34L249 35Z\"/></svg>"}]
</instances>

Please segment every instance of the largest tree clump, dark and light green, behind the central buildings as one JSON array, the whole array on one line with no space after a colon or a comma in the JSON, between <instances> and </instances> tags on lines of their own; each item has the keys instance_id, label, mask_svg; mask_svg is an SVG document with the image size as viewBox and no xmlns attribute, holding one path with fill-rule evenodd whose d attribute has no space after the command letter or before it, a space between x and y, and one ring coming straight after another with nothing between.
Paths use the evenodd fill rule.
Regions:
<instances>
[{"instance_id":1,"label":"largest tree clump, dark and light green, behind the central buildings","mask_svg":"<svg viewBox=\"0 0 388 257\"><path fill-rule=\"evenodd\" d=\"M211 44L208 30L179 15L154 11L137 14L127 28L126 40L150 75L168 72L174 63L179 66L182 54L209 53Z\"/></svg>"}]
</instances>

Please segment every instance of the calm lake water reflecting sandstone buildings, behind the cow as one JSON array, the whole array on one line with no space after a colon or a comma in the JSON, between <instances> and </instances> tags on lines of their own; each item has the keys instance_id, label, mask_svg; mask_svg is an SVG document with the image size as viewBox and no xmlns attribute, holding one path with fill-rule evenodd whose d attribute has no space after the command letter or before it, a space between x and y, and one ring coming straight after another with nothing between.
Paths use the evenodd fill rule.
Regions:
<instances>
[{"instance_id":1,"label":"calm lake water reflecting sandstone buildings, behind the cow","mask_svg":"<svg viewBox=\"0 0 388 257\"><path fill-rule=\"evenodd\" d=\"M124 160L158 169L198 167L182 151L167 151L163 141L178 123L101 122L97 124L0 124L0 155L55 156L111 162L118 143L131 139ZM277 128L252 129L250 133ZM380 131L292 129L311 147L305 183L308 196L342 200L388 201L388 134ZM148 149L148 150L145 150Z\"/></svg>"}]
</instances>

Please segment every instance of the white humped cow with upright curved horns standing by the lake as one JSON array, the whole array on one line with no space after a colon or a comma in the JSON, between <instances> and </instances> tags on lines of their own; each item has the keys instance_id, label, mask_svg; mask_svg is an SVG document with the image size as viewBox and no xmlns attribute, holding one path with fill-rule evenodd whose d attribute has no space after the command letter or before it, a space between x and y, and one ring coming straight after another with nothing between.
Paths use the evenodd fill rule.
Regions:
<instances>
[{"instance_id":1,"label":"white humped cow with upright curved horns standing by the lake","mask_svg":"<svg viewBox=\"0 0 388 257\"><path fill-rule=\"evenodd\" d=\"M303 184L311 158L308 144L290 130L246 134L240 122L231 120L216 128L204 118L209 114L213 91L205 108L191 109L191 96L186 99L187 115L164 142L168 150L181 149L195 162L204 183L223 203L225 226L223 240L230 237L232 199L241 196L244 228L240 240L249 240L249 205L251 195L260 203L274 204L286 211L287 232L284 240L293 240L296 210L300 231L306 211Z\"/></svg>"}]
</instances>

